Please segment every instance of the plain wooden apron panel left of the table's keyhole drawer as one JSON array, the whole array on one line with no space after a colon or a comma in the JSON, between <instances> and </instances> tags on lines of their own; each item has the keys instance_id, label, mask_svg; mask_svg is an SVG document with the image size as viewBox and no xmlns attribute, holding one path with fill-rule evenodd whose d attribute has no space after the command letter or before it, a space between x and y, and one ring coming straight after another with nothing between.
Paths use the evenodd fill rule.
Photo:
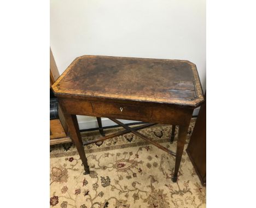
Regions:
<instances>
[{"instance_id":1,"label":"plain wooden apron panel left of the table's keyhole drawer","mask_svg":"<svg viewBox=\"0 0 256 208\"><path fill-rule=\"evenodd\" d=\"M83 115L92 114L92 106L90 101L81 100L63 100L62 105L64 111L68 114Z\"/></svg>"}]
</instances>

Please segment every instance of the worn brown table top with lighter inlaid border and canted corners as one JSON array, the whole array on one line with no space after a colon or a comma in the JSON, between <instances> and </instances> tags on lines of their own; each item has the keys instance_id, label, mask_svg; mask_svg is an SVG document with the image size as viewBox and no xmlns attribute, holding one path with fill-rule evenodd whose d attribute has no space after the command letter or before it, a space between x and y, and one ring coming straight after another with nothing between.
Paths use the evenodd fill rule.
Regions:
<instances>
[{"instance_id":1,"label":"worn brown table top with lighter inlaid border and canted corners","mask_svg":"<svg viewBox=\"0 0 256 208\"><path fill-rule=\"evenodd\" d=\"M56 96L105 97L197 107L203 92L187 60L82 56L53 84Z\"/></svg>"}]
</instances>

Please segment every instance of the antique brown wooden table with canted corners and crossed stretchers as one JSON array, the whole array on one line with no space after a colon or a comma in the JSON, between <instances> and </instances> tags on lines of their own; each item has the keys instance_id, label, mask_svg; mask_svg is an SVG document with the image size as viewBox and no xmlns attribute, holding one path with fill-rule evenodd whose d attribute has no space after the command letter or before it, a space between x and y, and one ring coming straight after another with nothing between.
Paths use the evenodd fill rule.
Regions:
<instances>
[{"instance_id":1,"label":"antique brown wooden table with canted corners and crossed stretchers","mask_svg":"<svg viewBox=\"0 0 256 208\"><path fill-rule=\"evenodd\" d=\"M90 170L84 145L132 132L176 156L172 181L177 181L191 116L204 100L195 64L187 60L82 56L68 66L52 88L85 174ZM106 117L125 130L83 143L76 115ZM117 119L147 124L131 128ZM156 123L179 126L176 153L137 131Z\"/></svg>"}]
</instances>

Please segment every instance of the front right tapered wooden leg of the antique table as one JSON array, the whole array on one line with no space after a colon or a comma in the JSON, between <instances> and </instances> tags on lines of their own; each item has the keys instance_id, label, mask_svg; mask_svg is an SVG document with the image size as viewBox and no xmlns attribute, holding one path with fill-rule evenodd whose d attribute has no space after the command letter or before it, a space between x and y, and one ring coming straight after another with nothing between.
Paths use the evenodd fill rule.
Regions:
<instances>
[{"instance_id":1,"label":"front right tapered wooden leg of the antique table","mask_svg":"<svg viewBox=\"0 0 256 208\"><path fill-rule=\"evenodd\" d=\"M176 161L175 161L175 168L172 181L177 182L178 179L178 171L179 165L181 164L181 158L183 154L183 149L185 145L185 140L187 139L189 125L187 126L179 126L179 134L178 134L178 142L177 142L177 151L176 151Z\"/></svg>"}]
</instances>

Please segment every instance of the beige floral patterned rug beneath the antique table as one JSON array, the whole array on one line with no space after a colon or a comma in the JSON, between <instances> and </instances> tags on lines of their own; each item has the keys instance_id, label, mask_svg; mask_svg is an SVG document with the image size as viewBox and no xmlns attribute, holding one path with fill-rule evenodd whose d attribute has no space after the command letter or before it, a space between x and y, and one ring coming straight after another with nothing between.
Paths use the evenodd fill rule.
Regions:
<instances>
[{"instance_id":1,"label":"beige floral patterned rug beneath the antique table","mask_svg":"<svg viewBox=\"0 0 256 208\"><path fill-rule=\"evenodd\" d=\"M192 119L187 144L194 124ZM106 134L120 129L108 129ZM176 151L177 133L173 144L169 142L171 125L155 125L139 132ZM90 140L100 134L84 132L82 137ZM174 157L132 133L85 146L85 152L90 175L83 175L74 145L51 147L50 207L206 207L206 188L185 151L177 183L171 181Z\"/></svg>"}]
</instances>

